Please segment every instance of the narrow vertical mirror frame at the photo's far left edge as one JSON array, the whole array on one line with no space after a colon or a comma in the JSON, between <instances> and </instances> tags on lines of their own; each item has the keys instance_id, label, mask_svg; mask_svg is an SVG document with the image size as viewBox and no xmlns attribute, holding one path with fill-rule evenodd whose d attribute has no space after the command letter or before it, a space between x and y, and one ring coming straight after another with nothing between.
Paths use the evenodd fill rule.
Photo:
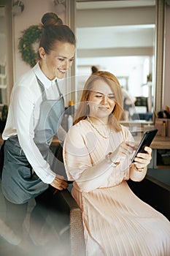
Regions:
<instances>
[{"instance_id":1,"label":"narrow vertical mirror frame at the photo's far left edge","mask_svg":"<svg viewBox=\"0 0 170 256\"><path fill-rule=\"evenodd\" d=\"M7 105L13 86L13 37L12 37L12 0L1 0L5 12L6 54L7 54Z\"/></svg>"}]
</instances>

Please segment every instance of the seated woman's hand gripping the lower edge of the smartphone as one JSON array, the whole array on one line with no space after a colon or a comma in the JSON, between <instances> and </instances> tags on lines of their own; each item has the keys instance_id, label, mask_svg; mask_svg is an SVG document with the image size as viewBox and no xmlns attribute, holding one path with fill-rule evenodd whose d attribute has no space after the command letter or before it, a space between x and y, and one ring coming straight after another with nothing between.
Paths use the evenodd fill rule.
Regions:
<instances>
[{"instance_id":1,"label":"seated woman's hand gripping the lower edge of the smartphone","mask_svg":"<svg viewBox=\"0 0 170 256\"><path fill-rule=\"evenodd\" d=\"M152 159L152 148L145 146L144 151L146 151L146 153L139 152L134 159L134 165L137 169L147 167L147 165L150 164L150 160Z\"/></svg>"}]
</instances>

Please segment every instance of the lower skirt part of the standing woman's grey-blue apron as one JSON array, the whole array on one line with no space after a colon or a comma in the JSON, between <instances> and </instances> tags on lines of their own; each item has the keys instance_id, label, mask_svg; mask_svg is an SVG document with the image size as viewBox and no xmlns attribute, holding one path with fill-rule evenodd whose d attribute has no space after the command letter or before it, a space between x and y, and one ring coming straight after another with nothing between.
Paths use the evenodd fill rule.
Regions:
<instances>
[{"instance_id":1,"label":"lower skirt part of the standing woman's grey-blue apron","mask_svg":"<svg viewBox=\"0 0 170 256\"><path fill-rule=\"evenodd\" d=\"M17 137L10 138L4 145L1 189L7 200L20 204L42 194L49 185L32 173L32 167L17 140Z\"/></svg>"}]
</instances>

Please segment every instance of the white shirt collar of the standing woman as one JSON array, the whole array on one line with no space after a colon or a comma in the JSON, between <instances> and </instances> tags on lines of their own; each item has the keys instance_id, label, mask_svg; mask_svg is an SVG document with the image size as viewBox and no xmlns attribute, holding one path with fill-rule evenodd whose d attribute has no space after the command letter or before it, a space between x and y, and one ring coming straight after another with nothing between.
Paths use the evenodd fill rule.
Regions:
<instances>
[{"instance_id":1,"label":"white shirt collar of the standing woman","mask_svg":"<svg viewBox=\"0 0 170 256\"><path fill-rule=\"evenodd\" d=\"M58 78L55 78L53 80L50 80L46 77L46 75L42 72L42 69L39 67L39 62L36 63L36 65L33 67L33 72L39 78L39 80L43 83L45 88L49 88L53 83L55 83L55 79L61 80Z\"/></svg>"}]
</instances>

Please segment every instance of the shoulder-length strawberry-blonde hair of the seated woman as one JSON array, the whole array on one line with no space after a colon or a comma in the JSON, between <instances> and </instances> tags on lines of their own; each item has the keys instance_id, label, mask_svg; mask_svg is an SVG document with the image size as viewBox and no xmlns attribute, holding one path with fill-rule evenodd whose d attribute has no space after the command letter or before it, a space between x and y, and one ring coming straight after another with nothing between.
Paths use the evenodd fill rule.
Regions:
<instances>
[{"instance_id":1,"label":"shoulder-length strawberry-blonde hair of the seated woman","mask_svg":"<svg viewBox=\"0 0 170 256\"><path fill-rule=\"evenodd\" d=\"M82 91L82 97L80 99L80 106L77 109L77 114L75 116L74 124L77 124L80 120L85 119L88 116L89 106L87 103L89 100L90 91L93 90L94 81L98 79L104 80L104 82L109 85L110 89L112 89L113 94L115 94L115 108L109 115L109 124L111 124L112 129L115 129L115 131L120 131L121 127L118 121L120 120L120 117L123 113L122 89L115 75L107 71L98 71L90 75L90 77L86 81L84 89Z\"/></svg>"}]
</instances>

